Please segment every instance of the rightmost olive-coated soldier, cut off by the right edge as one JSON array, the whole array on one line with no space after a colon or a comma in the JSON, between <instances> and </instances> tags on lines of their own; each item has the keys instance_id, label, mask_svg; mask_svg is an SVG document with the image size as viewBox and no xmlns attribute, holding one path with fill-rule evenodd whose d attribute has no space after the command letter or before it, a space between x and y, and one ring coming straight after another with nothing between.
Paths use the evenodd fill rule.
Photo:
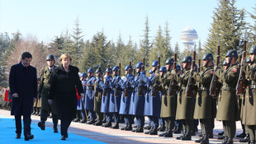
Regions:
<instances>
[{"instance_id":1,"label":"rightmost olive-coated soldier, cut off by the right edge","mask_svg":"<svg viewBox=\"0 0 256 144\"><path fill-rule=\"evenodd\" d=\"M246 94L244 98L244 109L242 111L242 123L246 126L246 131L249 132L249 144L256 143L256 45L249 49L249 57L251 66L248 63L243 63L243 71L249 78Z\"/></svg>"}]
</instances>

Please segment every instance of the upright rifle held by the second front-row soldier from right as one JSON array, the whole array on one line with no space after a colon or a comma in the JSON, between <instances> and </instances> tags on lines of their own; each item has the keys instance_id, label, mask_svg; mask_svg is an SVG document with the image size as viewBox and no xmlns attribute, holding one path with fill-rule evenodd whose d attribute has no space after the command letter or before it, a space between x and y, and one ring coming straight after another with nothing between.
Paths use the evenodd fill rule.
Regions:
<instances>
[{"instance_id":1,"label":"upright rifle held by the second front-row soldier from right","mask_svg":"<svg viewBox=\"0 0 256 144\"><path fill-rule=\"evenodd\" d=\"M217 46L217 51L216 51L216 66L219 67L220 64L220 38L218 39L218 46ZM217 97L219 94L219 91L216 89L218 77L216 77L216 69L213 72L213 76L211 78L211 86L210 86L210 93L212 97Z\"/></svg>"}]
</instances>

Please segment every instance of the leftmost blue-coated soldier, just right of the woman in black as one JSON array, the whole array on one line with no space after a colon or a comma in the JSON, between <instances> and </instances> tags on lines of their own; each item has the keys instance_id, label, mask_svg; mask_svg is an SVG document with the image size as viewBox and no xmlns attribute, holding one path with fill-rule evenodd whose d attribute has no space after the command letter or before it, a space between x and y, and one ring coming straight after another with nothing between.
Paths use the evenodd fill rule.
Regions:
<instances>
[{"instance_id":1,"label":"leftmost blue-coated soldier, just right of the woman in black","mask_svg":"<svg viewBox=\"0 0 256 144\"><path fill-rule=\"evenodd\" d=\"M81 81L82 81L84 95L86 95L86 85L87 85L86 79L87 79L87 73L83 72L82 76L81 76ZM82 112L81 112L82 119L81 119L80 123L86 123L86 121L87 121L87 114L85 114L86 109L85 109L84 104L85 104L85 97L81 98L81 100L80 100L80 105L82 105Z\"/></svg>"}]
</instances>

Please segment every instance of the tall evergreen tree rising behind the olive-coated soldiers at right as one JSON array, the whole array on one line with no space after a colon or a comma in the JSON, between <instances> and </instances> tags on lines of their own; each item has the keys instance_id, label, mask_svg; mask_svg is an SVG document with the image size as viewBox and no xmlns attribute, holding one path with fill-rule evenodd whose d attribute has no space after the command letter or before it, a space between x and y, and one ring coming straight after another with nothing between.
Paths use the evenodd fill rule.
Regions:
<instances>
[{"instance_id":1,"label":"tall evergreen tree rising behind the olive-coated soldiers at right","mask_svg":"<svg viewBox=\"0 0 256 144\"><path fill-rule=\"evenodd\" d=\"M239 41L245 26L244 9L235 7L235 0L220 0L216 7L210 34L206 39L205 52L216 53L218 38L220 37L220 57L230 49L240 49Z\"/></svg>"}]
</instances>

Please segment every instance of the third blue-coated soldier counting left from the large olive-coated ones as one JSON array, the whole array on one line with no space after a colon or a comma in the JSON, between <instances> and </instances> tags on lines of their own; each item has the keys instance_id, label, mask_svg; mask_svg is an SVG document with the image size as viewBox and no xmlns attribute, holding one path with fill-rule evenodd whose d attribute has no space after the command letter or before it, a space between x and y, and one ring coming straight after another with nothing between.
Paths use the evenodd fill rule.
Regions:
<instances>
[{"instance_id":1,"label":"third blue-coated soldier counting left from the large olive-coated ones","mask_svg":"<svg viewBox=\"0 0 256 144\"><path fill-rule=\"evenodd\" d=\"M130 68L129 68L130 67ZM119 114L123 114L125 118L126 127L121 128L121 130L131 131L132 130L132 115L129 113L130 109L130 98L133 94L133 88L131 87L131 81L134 81L135 77L129 73L133 71L132 66L127 65L125 68L126 80L123 81L122 89L124 92L121 95L121 104Z\"/></svg>"}]
</instances>

